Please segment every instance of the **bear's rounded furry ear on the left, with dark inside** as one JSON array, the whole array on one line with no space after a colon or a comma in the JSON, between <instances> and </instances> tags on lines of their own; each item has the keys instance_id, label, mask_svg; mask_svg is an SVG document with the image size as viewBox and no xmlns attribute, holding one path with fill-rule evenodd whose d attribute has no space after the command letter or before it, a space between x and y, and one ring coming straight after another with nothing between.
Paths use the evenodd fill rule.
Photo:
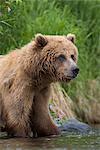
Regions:
<instances>
[{"instance_id":1,"label":"bear's rounded furry ear on the left, with dark inside","mask_svg":"<svg viewBox=\"0 0 100 150\"><path fill-rule=\"evenodd\" d=\"M35 35L35 42L36 42L36 45L38 47L44 47L44 46L47 45L48 40L47 40L47 38L44 35L42 35L42 34L36 34Z\"/></svg>"}]
</instances>

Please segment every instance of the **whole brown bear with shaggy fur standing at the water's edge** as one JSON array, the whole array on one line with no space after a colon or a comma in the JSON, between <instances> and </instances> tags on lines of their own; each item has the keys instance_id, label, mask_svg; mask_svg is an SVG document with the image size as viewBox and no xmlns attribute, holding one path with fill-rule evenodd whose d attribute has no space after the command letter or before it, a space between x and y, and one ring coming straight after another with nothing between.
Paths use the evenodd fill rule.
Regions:
<instances>
[{"instance_id":1,"label":"whole brown bear with shaggy fur standing at the water's edge","mask_svg":"<svg viewBox=\"0 0 100 150\"><path fill-rule=\"evenodd\" d=\"M10 136L59 134L48 110L52 82L69 82L79 72L75 37L45 36L0 58L0 116Z\"/></svg>"}]
</instances>

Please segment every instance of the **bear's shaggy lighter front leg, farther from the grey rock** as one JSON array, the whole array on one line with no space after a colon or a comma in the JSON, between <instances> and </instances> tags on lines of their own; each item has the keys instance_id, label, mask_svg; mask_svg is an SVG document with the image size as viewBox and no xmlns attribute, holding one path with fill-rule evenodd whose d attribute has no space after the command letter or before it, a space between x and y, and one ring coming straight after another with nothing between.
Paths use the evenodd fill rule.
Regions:
<instances>
[{"instance_id":1,"label":"bear's shaggy lighter front leg, farther from the grey rock","mask_svg":"<svg viewBox=\"0 0 100 150\"><path fill-rule=\"evenodd\" d=\"M28 87L21 86L5 95L2 117L8 135L29 137L31 134L29 115L33 93Z\"/></svg>"}]
</instances>

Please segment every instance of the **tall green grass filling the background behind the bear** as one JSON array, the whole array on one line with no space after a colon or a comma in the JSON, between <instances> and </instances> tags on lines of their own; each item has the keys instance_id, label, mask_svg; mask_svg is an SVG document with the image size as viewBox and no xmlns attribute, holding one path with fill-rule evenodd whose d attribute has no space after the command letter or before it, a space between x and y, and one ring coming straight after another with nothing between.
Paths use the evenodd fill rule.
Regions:
<instances>
[{"instance_id":1,"label":"tall green grass filling the background behind the bear","mask_svg":"<svg viewBox=\"0 0 100 150\"><path fill-rule=\"evenodd\" d=\"M36 33L69 32L77 37L80 75L68 87L62 86L73 100L94 99L87 84L99 82L100 76L100 0L0 1L0 54L21 47Z\"/></svg>"}]
</instances>

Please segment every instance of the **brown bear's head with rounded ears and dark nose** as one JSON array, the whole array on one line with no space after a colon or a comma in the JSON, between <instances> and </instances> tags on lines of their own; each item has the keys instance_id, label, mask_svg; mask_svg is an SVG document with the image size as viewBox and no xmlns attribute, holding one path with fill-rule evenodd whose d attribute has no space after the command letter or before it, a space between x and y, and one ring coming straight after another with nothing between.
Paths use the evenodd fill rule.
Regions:
<instances>
[{"instance_id":1,"label":"brown bear's head with rounded ears and dark nose","mask_svg":"<svg viewBox=\"0 0 100 150\"><path fill-rule=\"evenodd\" d=\"M52 82L67 82L79 73L78 50L74 41L74 34L67 36L36 35L35 44L39 51L41 72Z\"/></svg>"}]
</instances>

